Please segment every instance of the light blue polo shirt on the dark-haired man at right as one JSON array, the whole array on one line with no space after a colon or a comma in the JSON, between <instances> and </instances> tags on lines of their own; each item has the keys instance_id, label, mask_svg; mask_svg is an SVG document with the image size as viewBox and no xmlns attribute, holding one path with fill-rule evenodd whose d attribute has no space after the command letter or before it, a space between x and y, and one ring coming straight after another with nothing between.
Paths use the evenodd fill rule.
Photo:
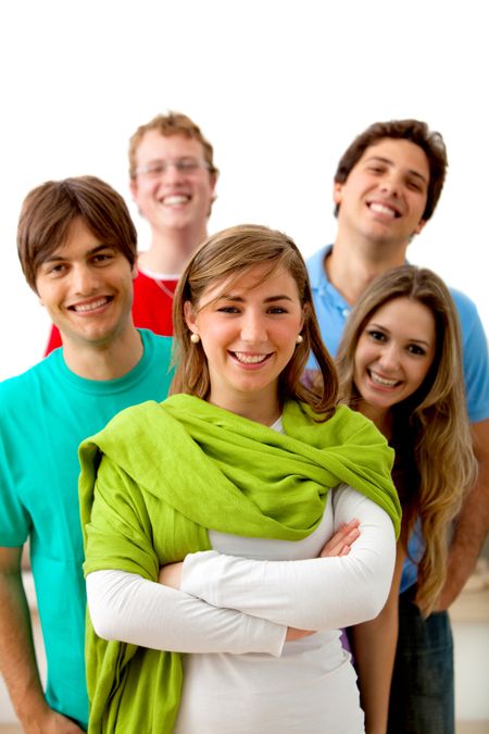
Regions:
<instances>
[{"instance_id":1,"label":"light blue polo shirt on the dark-haired man at right","mask_svg":"<svg viewBox=\"0 0 489 734\"><path fill-rule=\"evenodd\" d=\"M308 260L308 271L314 308L319 322L321 334L328 351L335 356L346 321L352 307L328 281L324 261L333 250L333 245L322 248ZM489 418L489 354L487 338L477 307L465 294L450 288L459 312L462 328L462 346L464 361L464 383L467 411L472 423ZM308 368L314 368L315 360L311 356ZM421 537L413 534L409 551L413 558L421 556ZM401 592L409 588L416 580L416 565L408 559L401 581Z\"/></svg>"}]
</instances>

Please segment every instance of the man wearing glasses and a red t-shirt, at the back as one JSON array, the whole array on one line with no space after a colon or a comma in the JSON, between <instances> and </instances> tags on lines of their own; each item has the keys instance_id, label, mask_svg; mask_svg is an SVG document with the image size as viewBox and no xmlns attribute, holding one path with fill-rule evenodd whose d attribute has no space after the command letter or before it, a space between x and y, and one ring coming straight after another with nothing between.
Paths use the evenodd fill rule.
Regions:
<instances>
[{"instance_id":1,"label":"man wearing glasses and a red t-shirt, at the back","mask_svg":"<svg viewBox=\"0 0 489 734\"><path fill-rule=\"evenodd\" d=\"M172 335L173 294L188 258L208 236L217 175L211 144L180 112L159 114L131 136L130 191L151 232L149 248L138 254L135 326ZM60 346L54 326L46 353Z\"/></svg>"}]
</instances>

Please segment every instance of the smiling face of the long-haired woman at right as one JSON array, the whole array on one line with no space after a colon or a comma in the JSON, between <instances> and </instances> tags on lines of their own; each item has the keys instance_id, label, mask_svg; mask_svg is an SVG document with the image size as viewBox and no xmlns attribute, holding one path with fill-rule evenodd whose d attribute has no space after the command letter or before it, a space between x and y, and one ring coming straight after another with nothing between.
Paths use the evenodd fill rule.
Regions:
<instances>
[{"instance_id":1,"label":"smiling face of the long-haired woman at right","mask_svg":"<svg viewBox=\"0 0 489 734\"><path fill-rule=\"evenodd\" d=\"M396 298L371 315L356 345L354 382L374 413L381 415L417 390L435 348L435 318L424 303Z\"/></svg>"}]
</instances>

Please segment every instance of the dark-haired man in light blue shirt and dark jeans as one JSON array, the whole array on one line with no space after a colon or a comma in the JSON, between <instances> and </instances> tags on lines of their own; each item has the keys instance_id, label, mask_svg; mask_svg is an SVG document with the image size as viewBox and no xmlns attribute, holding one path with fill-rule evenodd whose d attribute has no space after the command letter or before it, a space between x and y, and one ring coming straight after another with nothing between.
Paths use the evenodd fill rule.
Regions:
<instances>
[{"instance_id":1,"label":"dark-haired man in light blue shirt and dark jeans","mask_svg":"<svg viewBox=\"0 0 489 734\"><path fill-rule=\"evenodd\" d=\"M367 284L405 262L410 241L435 211L446 170L442 137L416 120L374 123L342 155L334 183L337 237L308 262L323 338L333 354ZM453 645L447 609L474 569L489 523L487 339L473 301L457 290L451 293L462 325L467 409L479 476L454 526L438 611L426 620L412 601L416 567L412 561L405 564L389 734L454 731ZM410 545L410 550L415 557L415 548Z\"/></svg>"}]
</instances>

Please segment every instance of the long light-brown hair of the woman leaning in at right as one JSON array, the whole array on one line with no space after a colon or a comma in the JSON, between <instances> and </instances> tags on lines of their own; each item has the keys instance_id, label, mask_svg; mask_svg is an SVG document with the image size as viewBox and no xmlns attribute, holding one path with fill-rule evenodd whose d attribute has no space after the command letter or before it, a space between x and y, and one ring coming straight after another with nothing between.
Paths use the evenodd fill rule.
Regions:
<instances>
[{"instance_id":1,"label":"long light-brown hair of the woman leaning in at right","mask_svg":"<svg viewBox=\"0 0 489 734\"><path fill-rule=\"evenodd\" d=\"M477 466L465 406L459 318L443 281L413 265L396 268L373 281L350 314L337 364L341 399L359 409L361 396L353 380L359 338L374 312L398 298L426 306L436 325L436 353L428 374L413 395L391 408L394 443L401 434L412 447L417 475L415 494L401 497L403 537L408 538L418 517L425 548L416 604L429 614L446 581L451 521L475 481Z\"/></svg>"}]
</instances>

